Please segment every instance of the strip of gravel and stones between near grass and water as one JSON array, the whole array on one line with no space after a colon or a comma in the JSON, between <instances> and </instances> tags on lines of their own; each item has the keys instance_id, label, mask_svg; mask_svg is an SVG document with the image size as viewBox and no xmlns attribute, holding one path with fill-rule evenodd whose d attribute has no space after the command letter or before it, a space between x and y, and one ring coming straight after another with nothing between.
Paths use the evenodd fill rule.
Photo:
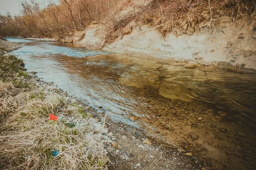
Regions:
<instances>
[{"instance_id":1,"label":"strip of gravel and stones between near grass and water","mask_svg":"<svg viewBox=\"0 0 256 170\"><path fill-rule=\"evenodd\" d=\"M35 73L35 72L33 72ZM90 128L93 139L104 144L104 152L111 159L109 169L201 169L205 167L186 149L172 147L148 139L140 129L116 123L103 111L79 102L75 96L59 89L52 82L44 82L29 73L29 83L36 85L44 95L60 95L67 108L58 112L58 120L66 125ZM207 167L205 167L207 168Z\"/></svg>"}]
</instances>

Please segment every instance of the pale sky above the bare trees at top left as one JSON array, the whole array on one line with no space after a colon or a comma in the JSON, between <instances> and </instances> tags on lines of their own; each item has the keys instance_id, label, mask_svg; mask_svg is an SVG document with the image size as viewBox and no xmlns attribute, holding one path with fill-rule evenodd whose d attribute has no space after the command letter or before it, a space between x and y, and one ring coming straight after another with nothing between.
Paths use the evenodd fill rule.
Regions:
<instances>
[{"instance_id":1,"label":"pale sky above the bare trees at top left","mask_svg":"<svg viewBox=\"0 0 256 170\"><path fill-rule=\"evenodd\" d=\"M11 13L11 15L18 15L22 9L21 2L24 0L0 0L0 14L6 14L7 11ZM30 2L30 0L27 0ZM49 0L35 0L38 2L41 7L47 6Z\"/></svg>"}]
</instances>

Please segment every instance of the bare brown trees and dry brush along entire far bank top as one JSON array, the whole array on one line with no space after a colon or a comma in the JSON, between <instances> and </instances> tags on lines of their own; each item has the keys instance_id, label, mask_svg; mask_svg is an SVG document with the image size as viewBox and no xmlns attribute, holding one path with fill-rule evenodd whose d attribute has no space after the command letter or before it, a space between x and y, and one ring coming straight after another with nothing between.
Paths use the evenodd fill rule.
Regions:
<instances>
[{"instance_id":1,"label":"bare brown trees and dry brush along entire far bank top","mask_svg":"<svg viewBox=\"0 0 256 170\"><path fill-rule=\"evenodd\" d=\"M109 44L143 24L157 27L166 37L214 31L222 17L233 23L256 16L255 0L57 0L46 8L30 0L21 5L19 16L0 15L1 37L62 39L98 23L108 29ZM131 28L124 29L128 24Z\"/></svg>"}]
</instances>

